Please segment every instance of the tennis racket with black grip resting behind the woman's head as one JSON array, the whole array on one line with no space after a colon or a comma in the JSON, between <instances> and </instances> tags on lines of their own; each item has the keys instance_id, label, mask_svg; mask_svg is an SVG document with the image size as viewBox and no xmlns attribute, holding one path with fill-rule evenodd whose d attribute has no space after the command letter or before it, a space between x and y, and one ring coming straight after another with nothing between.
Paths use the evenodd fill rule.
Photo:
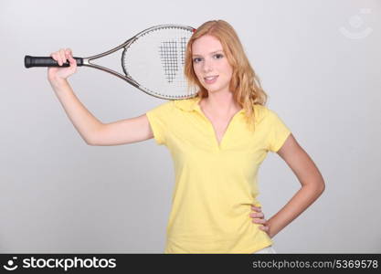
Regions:
<instances>
[{"instance_id":1,"label":"tennis racket with black grip resting behind the woman's head","mask_svg":"<svg viewBox=\"0 0 381 274\"><path fill-rule=\"evenodd\" d=\"M109 72L154 97L167 100L187 99L196 96L196 89L188 87L184 74L186 44L195 31L196 29L191 26L153 26L109 51L89 58L74 59L78 66ZM124 48L122 51L124 74L90 62L121 48ZM69 67L69 61L59 66L51 57L28 55L24 58L24 64L26 68Z\"/></svg>"}]
</instances>

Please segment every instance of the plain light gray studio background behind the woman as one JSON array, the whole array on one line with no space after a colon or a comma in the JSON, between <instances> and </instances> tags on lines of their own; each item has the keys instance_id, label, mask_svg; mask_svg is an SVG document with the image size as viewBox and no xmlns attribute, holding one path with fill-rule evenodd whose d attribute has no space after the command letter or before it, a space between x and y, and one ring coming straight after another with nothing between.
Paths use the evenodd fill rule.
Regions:
<instances>
[{"instance_id":1,"label":"plain light gray studio background behind the woman","mask_svg":"<svg viewBox=\"0 0 381 274\"><path fill-rule=\"evenodd\" d=\"M0 252L163 253L174 171L153 139L90 146L26 54L87 57L159 24L234 26L270 95L325 179L323 195L275 236L279 253L381 251L381 1L0 2ZM120 55L98 63L119 69ZM164 100L93 68L69 79L101 121ZM276 153L259 172L267 218L300 184Z\"/></svg>"}]
</instances>

